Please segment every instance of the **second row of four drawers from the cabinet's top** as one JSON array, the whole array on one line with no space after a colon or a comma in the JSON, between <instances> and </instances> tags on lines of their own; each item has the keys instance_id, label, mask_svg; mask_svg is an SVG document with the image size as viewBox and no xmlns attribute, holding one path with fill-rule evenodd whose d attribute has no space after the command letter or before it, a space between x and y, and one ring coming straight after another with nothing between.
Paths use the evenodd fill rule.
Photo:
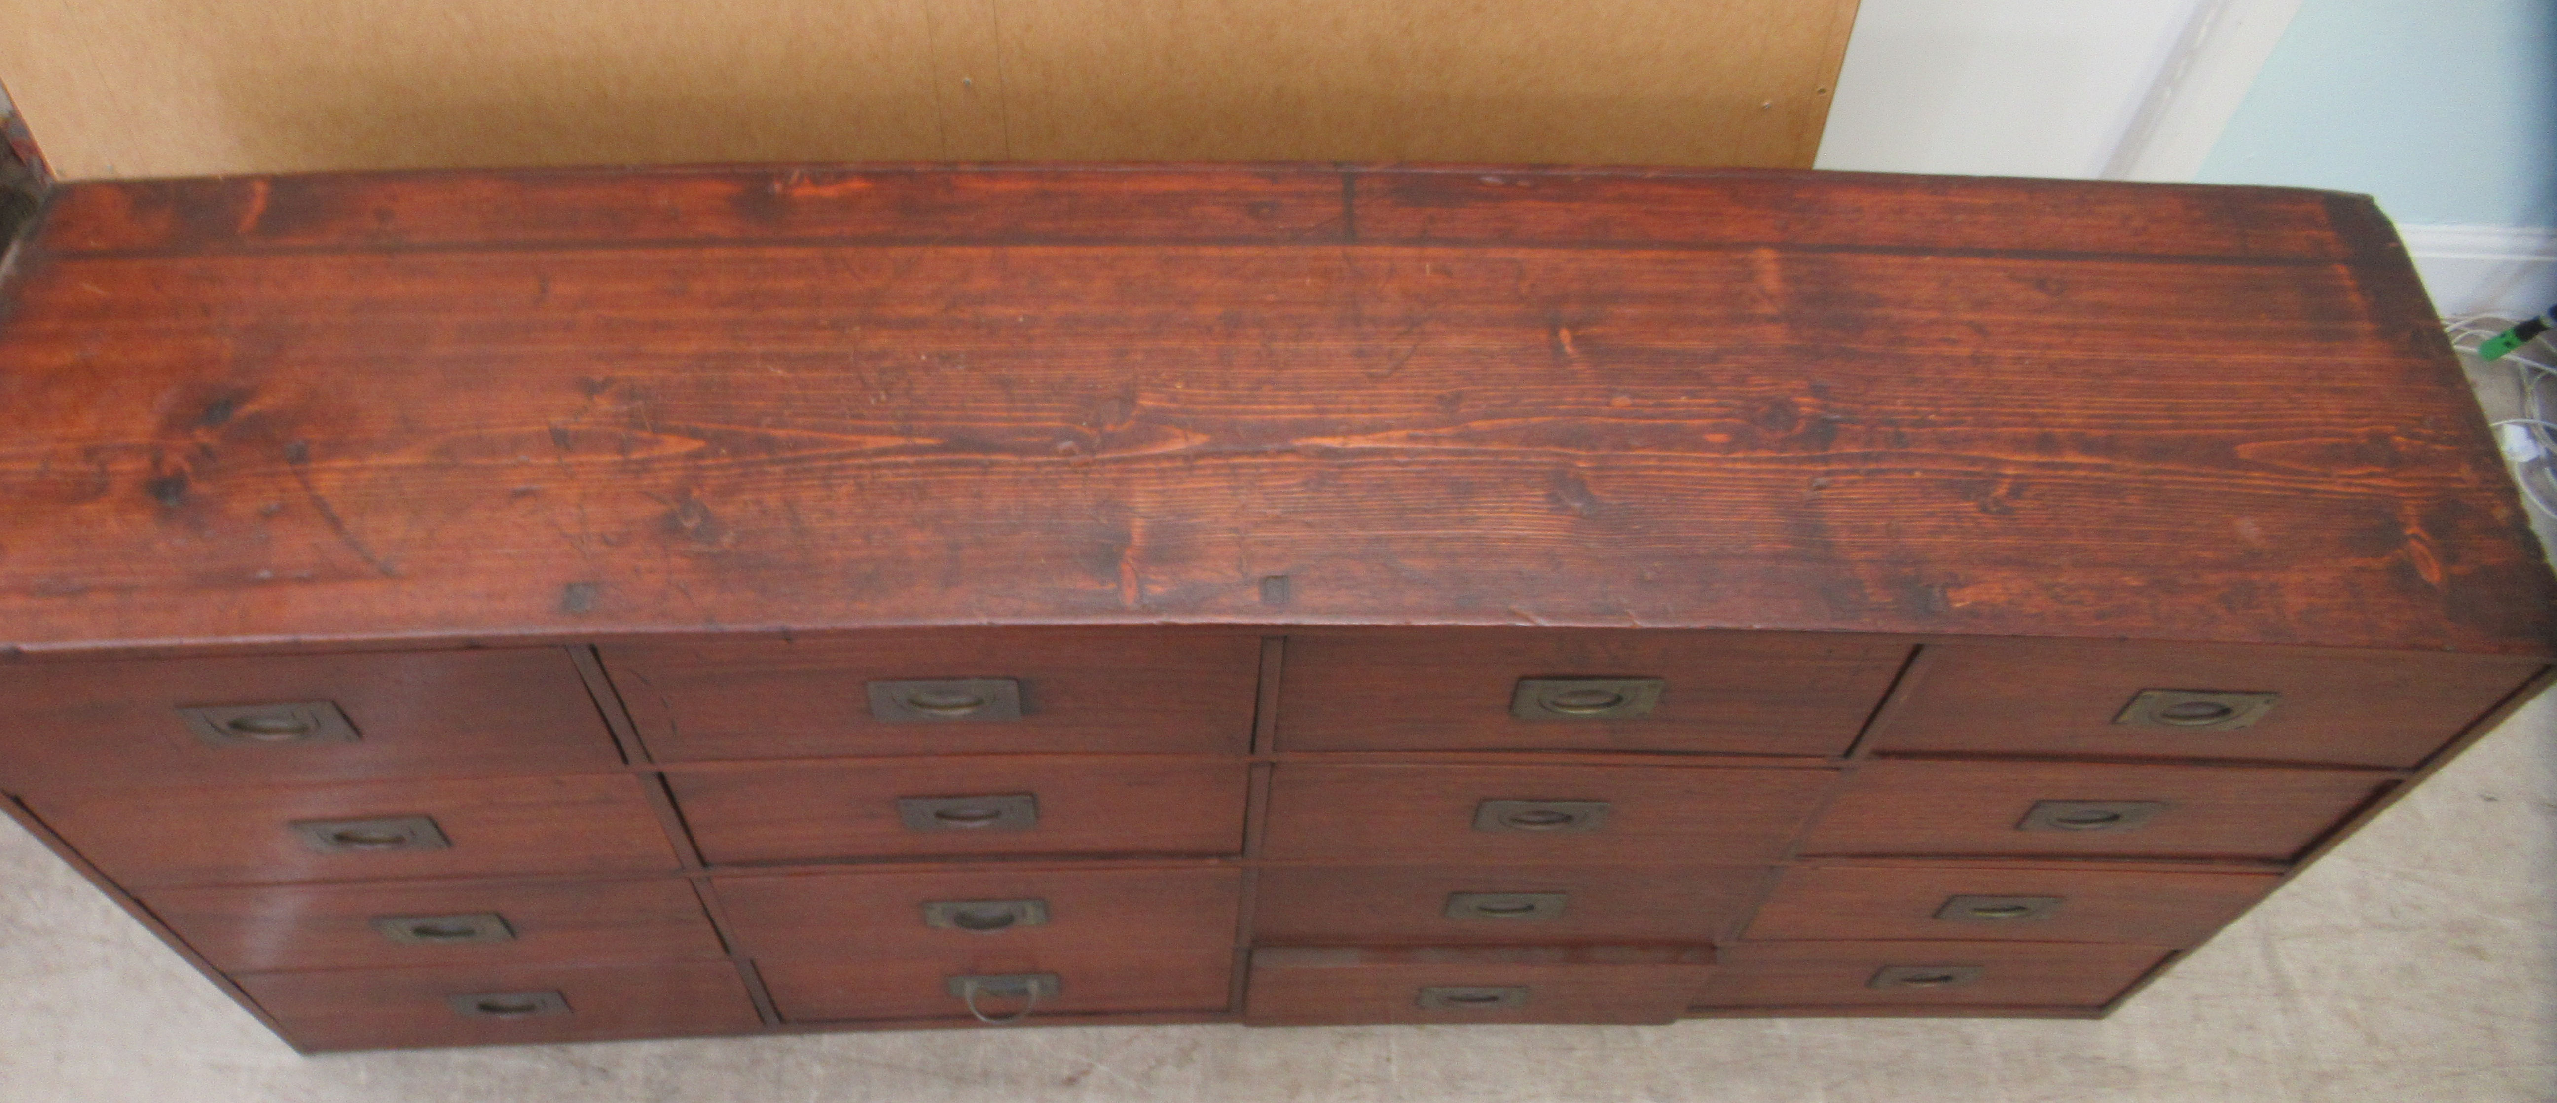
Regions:
<instances>
[{"instance_id":1,"label":"second row of four drawers from the cabinet's top","mask_svg":"<svg viewBox=\"0 0 2557 1103\"><path fill-rule=\"evenodd\" d=\"M670 773L711 865L1240 855L1248 765L969 758ZM2289 860L2391 778L2358 770L1872 760L1271 768L1276 862L1764 865L1810 857ZM642 775L378 781L28 798L128 888L672 870ZM1823 806L1826 798L1826 806ZM1805 829L1808 824L1808 829Z\"/></svg>"}]
</instances>

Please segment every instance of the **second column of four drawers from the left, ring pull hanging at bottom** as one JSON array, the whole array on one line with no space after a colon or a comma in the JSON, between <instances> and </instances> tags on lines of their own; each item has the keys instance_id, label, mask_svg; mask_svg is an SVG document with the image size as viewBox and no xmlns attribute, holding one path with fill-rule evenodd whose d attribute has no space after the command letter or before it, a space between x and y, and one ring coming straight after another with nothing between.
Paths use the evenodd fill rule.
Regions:
<instances>
[{"instance_id":1,"label":"second column of four drawers from the left, ring pull hanging at bottom","mask_svg":"<svg viewBox=\"0 0 2557 1103\"><path fill-rule=\"evenodd\" d=\"M1258 632L601 658L785 1024L1230 1008Z\"/></svg>"}]
</instances>

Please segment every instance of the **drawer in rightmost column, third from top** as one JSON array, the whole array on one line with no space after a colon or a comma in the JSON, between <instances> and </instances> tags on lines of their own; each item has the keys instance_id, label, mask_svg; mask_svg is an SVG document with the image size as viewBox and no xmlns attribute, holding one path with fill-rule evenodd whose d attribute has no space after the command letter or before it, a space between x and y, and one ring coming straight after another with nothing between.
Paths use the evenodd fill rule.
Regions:
<instances>
[{"instance_id":1,"label":"drawer in rightmost column, third from top","mask_svg":"<svg viewBox=\"0 0 2557 1103\"><path fill-rule=\"evenodd\" d=\"M2196 947L2273 873L1798 865L1749 939L2017 939Z\"/></svg>"}]
</instances>

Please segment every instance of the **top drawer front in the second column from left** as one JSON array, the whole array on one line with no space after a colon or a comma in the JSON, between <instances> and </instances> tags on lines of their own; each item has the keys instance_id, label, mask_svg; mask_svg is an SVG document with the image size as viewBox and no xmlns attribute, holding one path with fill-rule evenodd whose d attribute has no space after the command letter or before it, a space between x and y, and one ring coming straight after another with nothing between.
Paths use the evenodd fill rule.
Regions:
<instances>
[{"instance_id":1,"label":"top drawer front in the second column from left","mask_svg":"<svg viewBox=\"0 0 2557 1103\"><path fill-rule=\"evenodd\" d=\"M642 642L606 645L603 665L649 755L662 763L1240 755L1253 737L1261 637L941 630L798 642Z\"/></svg>"}]
</instances>

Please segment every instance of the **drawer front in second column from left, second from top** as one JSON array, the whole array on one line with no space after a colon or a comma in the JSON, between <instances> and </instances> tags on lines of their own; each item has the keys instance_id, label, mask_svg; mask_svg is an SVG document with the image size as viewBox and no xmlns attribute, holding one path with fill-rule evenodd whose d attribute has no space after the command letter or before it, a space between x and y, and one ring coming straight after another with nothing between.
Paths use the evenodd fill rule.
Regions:
<instances>
[{"instance_id":1,"label":"drawer front in second column from left, second from top","mask_svg":"<svg viewBox=\"0 0 2557 1103\"><path fill-rule=\"evenodd\" d=\"M1232 855L1245 770L1240 760L967 758L698 770L667 783L708 862ZM990 816L969 819L979 811Z\"/></svg>"}]
</instances>

